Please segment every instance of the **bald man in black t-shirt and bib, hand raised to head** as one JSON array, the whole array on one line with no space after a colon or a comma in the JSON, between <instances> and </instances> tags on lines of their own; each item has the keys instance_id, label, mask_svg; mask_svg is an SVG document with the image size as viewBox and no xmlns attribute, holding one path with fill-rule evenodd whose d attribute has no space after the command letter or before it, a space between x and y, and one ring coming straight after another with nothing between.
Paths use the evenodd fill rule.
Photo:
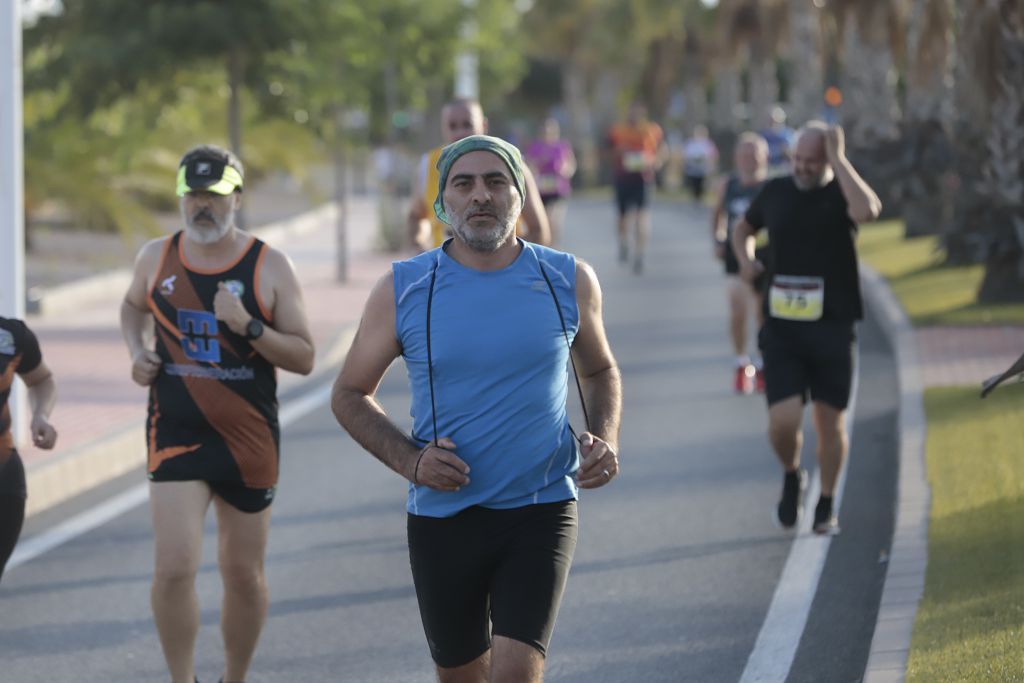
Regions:
<instances>
[{"instance_id":1,"label":"bald man in black t-shirt and bib, hand raised to head","mask_svg":"<svg viewBox=\"0 0 1024 683\"><path fill-rule=\"evenodd\" d=\"M863 314L854 245L857 224L874 220L878 196L846 159L843 130L814 121L797 136L792 176L774 178L733 228L741 275L764 266L753 258L754 234L768 228L765 360L769 437L785 470L776 515L796 525L807 473L800 467L801 421L808 394L817 432L821 498L814 531L838 530L833 494L848 449L844 412L853 379L854 324Z\"/></svg>"}]
</instances>

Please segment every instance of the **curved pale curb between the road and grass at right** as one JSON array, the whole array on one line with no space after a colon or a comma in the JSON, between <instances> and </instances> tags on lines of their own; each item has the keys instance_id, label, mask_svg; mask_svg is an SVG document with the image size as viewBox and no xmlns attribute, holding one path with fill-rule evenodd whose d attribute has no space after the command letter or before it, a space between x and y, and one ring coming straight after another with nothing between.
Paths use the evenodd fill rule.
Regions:
<instances>
[{"instance_id":1,"label":"curved pale curb between the road and grass at right","mask_svg":"<svg viewBox=\"0 0 1024 683\"><path fill-rule=\"evenodd\" d=\"M900 394L896 528L863 681L902 683L928 566L931 488L926 472L924 384L913 327L906 313L885 279L863 261L860 273L867 304L896 354Z\"/></svg>"}]
</instances>

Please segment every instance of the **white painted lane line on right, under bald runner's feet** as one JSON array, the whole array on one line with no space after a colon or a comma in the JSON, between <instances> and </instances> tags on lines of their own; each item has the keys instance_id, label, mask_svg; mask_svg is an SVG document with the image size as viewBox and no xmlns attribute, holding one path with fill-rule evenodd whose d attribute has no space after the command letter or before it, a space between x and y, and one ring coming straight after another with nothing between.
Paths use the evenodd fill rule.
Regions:
<instances>
[{"instance_id":1,"label":"white painted lane line on right, under bald runner's feet","mask_svg":"<svg viewBox=\"0 0 1024 683\"><path fill-rule=\"evenodd\" d=\"M855 347L853 387L850 391L850 405L846 413L846 433L853 441L853 414L857 403L857 388L860 384L860 347ZM849 458L847 458L849 462ZM833 509L839 510L843 504L846 488L847 465L843 465L833 500ZM814 520L814 505L821 492L821 480L817 471L811 473L811 483L807 489L804 516L800 520L797 537L790 547L782 574L779 577L775 594L761 632L758 634L754 650L746 659L746 667L739 683L782 683L790 675L790 668L797 655L797 646L804 635L807 617L811 612L811 602L817 593L821 569L831 537L820 537L811 532ZM842 519L840 524L842 525Z\"/></svg>"}]
</instances>

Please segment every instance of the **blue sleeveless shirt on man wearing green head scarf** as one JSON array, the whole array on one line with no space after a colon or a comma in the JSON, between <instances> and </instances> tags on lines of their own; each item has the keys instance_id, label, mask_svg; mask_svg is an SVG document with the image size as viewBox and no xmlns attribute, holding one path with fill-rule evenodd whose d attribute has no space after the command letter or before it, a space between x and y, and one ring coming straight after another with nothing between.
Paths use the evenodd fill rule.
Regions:
<instances>
[{"instance_id":1,"label":"blue sleeveless shirt on man wearing green head scarf","mask_svg":"<svg viewBox=\"0 0 1024 683\"><path fill-rule=\"evenodd\" d=\"M580 326L575 259L521 242L506 268L481 272L461 265L445 245L395 261L395 331L412 390L413 438L434 437L427 368L427 298L431 304L437 437L447 436L470 467L461 490L410 484L409 512L450 517L479 505L517 508L575 499L580 466L565 412L568 347Z\"/></svg>"}]
</instances>

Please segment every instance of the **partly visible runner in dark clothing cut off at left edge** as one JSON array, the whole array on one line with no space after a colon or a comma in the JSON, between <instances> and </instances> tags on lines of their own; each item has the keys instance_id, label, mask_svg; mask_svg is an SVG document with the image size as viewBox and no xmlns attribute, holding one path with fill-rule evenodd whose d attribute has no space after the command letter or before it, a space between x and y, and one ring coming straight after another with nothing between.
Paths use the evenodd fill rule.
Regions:
<instances>
[{"instance_id":1,"label":"partly visible runner in dark clothing cut off at left edge","mask_svg":"<svg viewBox=\"0 0 1024 683\"><path fill-rule=\"evenodd\" d=\"M0 317L0 579L25 521L25 467L14 447L7 398L17 374L29 387L32 409L32 442L52 449L57 432L50 424L50 412L57 391L50 369L43 362L39 342L22 321Z\"/></svg>"}]
</instances>

